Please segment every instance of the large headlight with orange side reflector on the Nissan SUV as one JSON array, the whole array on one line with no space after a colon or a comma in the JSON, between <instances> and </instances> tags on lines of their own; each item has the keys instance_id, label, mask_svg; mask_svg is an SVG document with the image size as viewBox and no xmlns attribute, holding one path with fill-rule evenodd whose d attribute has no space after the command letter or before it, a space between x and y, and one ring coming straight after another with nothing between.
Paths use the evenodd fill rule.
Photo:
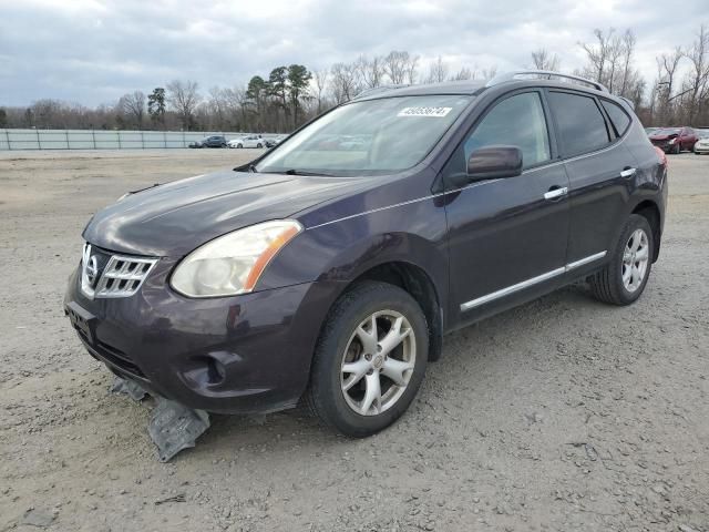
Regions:
<instances>
[{"instance_id":1,"label":"large headlight with orange side reflector on the Nissan SUV","mask_svg":"<svg viewBox=\"0 0 709 532\"><path fill-rule=\"evenodd\" d=\"M215 238L187 255L171 286L188 297L251 291L276 254L302 231L292 219L275 219Z\"/></svg>"}]
</instances>

